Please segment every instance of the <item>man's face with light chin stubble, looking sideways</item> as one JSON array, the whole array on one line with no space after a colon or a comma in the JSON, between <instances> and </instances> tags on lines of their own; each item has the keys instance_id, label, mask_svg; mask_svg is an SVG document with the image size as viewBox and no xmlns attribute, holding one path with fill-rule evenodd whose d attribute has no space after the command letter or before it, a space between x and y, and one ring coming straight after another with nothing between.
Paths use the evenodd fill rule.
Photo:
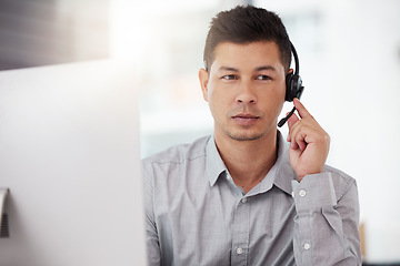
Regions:
<instances>
[{"instance_id":1,"label":"man's face with light chin stubble, looking sideways","mask_svg":"<svg viewBox=\"0 0 400 266\"><path fill-rule=\"evenodd\" d=\"M274 42L222 42L200 83L214 119L214 134L252 141L277 131L284 102L284 68Z\"/></svg>"}]
</instances>

